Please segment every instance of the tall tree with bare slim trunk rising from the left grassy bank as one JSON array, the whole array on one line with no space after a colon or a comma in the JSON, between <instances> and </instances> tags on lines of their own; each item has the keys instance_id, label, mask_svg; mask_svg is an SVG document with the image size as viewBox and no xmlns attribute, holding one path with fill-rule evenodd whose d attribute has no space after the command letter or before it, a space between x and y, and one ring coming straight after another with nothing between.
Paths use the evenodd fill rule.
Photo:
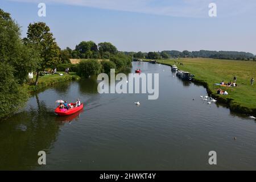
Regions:
<instances>
[{"instance_id":1,"label":"tall tree with bare slim trunk rising from the left grassy bank","mask_svg":"<svg viewBox=\"0 0 256 182\"><path fill-rule=\"evenodd\" d=\"M24 38L24 42L36 48L42 57L36 70L35 85L37 85L40 71L61 63L60 48L50 32L50 28L43 22L28 25L27 38Z\"/></svg>"}]
</instances>

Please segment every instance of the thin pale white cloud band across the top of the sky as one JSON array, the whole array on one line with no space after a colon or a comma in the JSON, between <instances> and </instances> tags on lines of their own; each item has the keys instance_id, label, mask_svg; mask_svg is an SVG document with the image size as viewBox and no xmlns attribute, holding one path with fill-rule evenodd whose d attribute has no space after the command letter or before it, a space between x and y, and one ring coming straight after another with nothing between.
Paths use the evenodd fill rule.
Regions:
<instances>
[{"instance_id":1,"label":"thin pale white cloud band across the top of the sky","mask_svg":"<svg viewBox=\"0 0 256 182\"><path fill-rule=\"evenodd\" d=\"M155 15L208 18L208 5L217 4L222 16L254 11L255 0L10 0L32 3L62 3L118 11Z\"/></svg>"}]
</instances>

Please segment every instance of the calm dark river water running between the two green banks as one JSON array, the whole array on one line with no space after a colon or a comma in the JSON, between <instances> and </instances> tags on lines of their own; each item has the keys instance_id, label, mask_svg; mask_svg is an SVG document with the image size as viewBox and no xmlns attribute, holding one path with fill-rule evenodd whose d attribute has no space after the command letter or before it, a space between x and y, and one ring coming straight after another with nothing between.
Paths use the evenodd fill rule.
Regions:
<instances>
[{"instance_id":1,"label":"calm dark river water running between the two green banks","mask_svg":"<svg viewBox=\"0 0 256 182\"><path fill-rule=\"evenodd\" d=\"M203 86L183 82L166 65L133 63L159 73L159 98L99 94L95 78L57 84L0 122L0 169L226 170L256 169L256 123L200 96ZM84 110L57 117L58 99ZM139 101L137 106L134 102ZM236 137L236 139L234 139ZM46 151L46 165L38 152ZM216 151L217 165L209 165Z\"/></svg>"}]
</instances>

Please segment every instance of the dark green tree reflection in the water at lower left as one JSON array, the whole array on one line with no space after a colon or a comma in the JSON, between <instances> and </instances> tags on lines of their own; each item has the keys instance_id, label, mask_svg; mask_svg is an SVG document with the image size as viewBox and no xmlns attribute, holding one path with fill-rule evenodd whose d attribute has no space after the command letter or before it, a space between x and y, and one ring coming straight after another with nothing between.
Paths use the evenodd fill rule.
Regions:
<instances>
[{"instance_id":1,"label":"dark green tree reflection in the water at lower left","mask_svg":"<svg viewBox=\"0 0 256 182\"><path fill-rule=\"evenodd\" d=\"M59 125L52 110L36 96L38 107L15 114L0 123L0 169L33 169L38 152L46 151L55 141Z\"/></svg>"}]
</instances>

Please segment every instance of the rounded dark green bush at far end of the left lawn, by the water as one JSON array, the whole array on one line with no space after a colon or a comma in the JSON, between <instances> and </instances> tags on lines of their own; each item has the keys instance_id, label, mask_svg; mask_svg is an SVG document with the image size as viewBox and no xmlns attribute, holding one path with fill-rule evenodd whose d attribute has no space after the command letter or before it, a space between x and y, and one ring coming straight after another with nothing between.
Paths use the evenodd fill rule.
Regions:
<instances>
[{"instance_id":1,"label":"rounded dark green bush at far end of the left lawn, by the water","mask_svg":"<svg viewBox=\"0 0 256 182\"><path fill-rule=\"evenodd\" d=\"M89 77L90 75L97 75L101 71L101 64L94 59L81 60L78 65L77 75L81 77Z\"/></svg>"}]
</instances>

